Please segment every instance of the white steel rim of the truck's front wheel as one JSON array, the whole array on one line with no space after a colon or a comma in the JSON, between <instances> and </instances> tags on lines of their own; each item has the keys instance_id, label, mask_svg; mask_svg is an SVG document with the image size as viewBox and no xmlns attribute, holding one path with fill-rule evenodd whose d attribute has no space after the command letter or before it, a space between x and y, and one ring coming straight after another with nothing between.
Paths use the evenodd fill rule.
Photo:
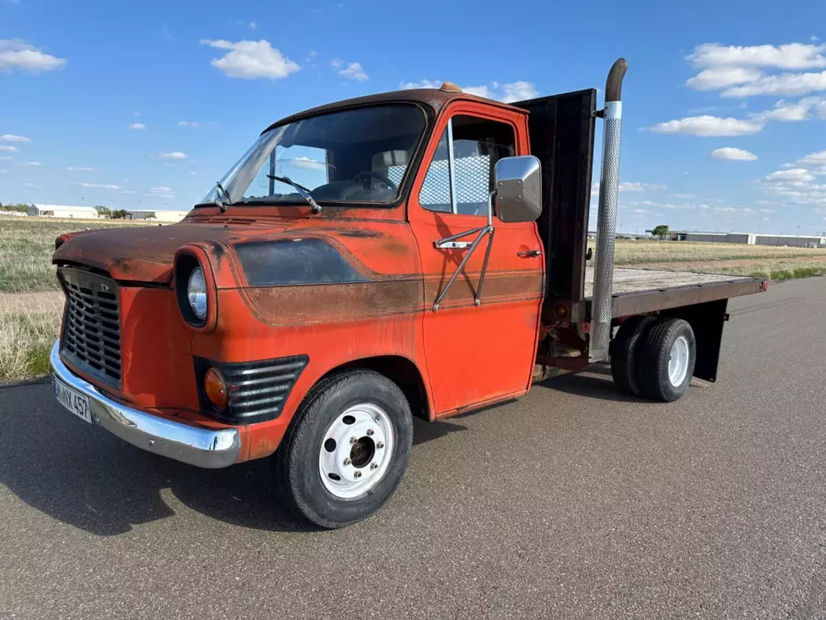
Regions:
<instances>
[{"instance_id":1,"label":"white steel rim of the truck's front wheel","mask_svg":"<svg viewBox=\"0 0 826 620\"><path fill-rule=\"evenodd\" d=\"M359 403L346 409L321 439L321 484L341 499L367 493L387 474L395 441L390 416L378 405Z\"/></svg>"}]
</instances>

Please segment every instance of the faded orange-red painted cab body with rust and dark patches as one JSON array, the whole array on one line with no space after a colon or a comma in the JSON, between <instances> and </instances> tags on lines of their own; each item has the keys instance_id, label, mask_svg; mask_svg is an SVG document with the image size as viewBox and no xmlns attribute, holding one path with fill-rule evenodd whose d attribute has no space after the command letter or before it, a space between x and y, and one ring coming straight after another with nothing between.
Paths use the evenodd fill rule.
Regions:
<instances>
[{"instance_id":1,"label":"faded orange-red painted cab body with rust and dark patches","mask_svg":"<svg viewBox=\"0 0 826 620\"><path fill-rule=\"evenodd\" d=\"M317 215L310 207L230 207L225 213L199 207L173 226L61 237L55 263L102 269L121 285L123 379L116 398L160 416L226 427L199 412L193 356L244 362L308 355L281 415L238 427L240 460L249 460L272 454L312 386L354 360L384 355L410 360L423 379L430 419L527 391L539 339L544 256L523 258L517 251L542 250L536 225L495 222L482 305L473 302L483 247L433 312L435 298L462 258L456 250L435 250L433 242L482 226L486 218L428 212L417 198L450 115L509 123L517 154L527 154L526 113L463 93L388 97L368 101L414 100L431 106L435 117L411 198L399 207L325 207ZM364 281L250 287L235 245L296 238L335 247ZM173 261L184 246L211 272L215 322L208 328L193 329L178 311L174 289L186 283L174 281Z\"/></svg>"}]
</instances>

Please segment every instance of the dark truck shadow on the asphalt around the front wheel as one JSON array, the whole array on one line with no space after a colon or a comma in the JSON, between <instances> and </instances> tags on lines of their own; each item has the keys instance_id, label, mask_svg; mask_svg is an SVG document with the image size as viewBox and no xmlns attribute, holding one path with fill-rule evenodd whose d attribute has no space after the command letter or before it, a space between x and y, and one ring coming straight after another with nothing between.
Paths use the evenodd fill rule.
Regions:
<instances>
[{"instance_id":1,"label":"dark truck shadow on the asphalt around the front wheel","mask_svg":"<svg viewBox=\"0 0 826 620\"><path fill-rule=\"evenodd\" d=\"M97 536L117 536L188 509L242 527L316 532L287 511L269 460L202 470L126 444L59 408L50 385L0 390L0 484L22 502ZM415 420L415 444L463 430ZM183 504L183 506L182 506Z\"/></svg>"}]
</instances>

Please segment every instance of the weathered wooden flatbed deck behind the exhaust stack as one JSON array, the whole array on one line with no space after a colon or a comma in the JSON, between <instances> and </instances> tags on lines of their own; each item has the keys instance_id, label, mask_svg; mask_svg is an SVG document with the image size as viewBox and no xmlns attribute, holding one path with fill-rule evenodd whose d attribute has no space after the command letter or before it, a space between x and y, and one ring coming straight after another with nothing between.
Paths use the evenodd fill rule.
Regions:
<instances>
[{"instance_id":1,"label":"weathered wooden flatbed deck behind the exhaust stack","mask_svg":"<svg viewBox=\"0 0 826 620\"><path fill-rule=\"evenodd\" d=\"M759 292L765 280L724 274L695 274L665 269L614 269L615 317L678 308L693 303ZM586 267L585 297L591 316L594 268Z\"/></svg>"}]
</instances>

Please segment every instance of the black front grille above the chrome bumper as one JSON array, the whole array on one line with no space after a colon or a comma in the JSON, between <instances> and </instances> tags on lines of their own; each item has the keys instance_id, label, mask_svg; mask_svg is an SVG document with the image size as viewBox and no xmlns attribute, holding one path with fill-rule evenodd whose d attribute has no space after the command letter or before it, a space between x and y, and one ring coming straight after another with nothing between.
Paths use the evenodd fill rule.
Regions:
<instances>
[{"instance_id":1,"label":"black front grille above the chrome bumper","mask_svg":"<svg viewBox=\"0 0 826 620\"><path fill-rule=\"evenodd\" d=\"M61 353L80 370L121 387L121 309L115 280L59 269L66 292Z\"/></svg>"}]
</instances>

